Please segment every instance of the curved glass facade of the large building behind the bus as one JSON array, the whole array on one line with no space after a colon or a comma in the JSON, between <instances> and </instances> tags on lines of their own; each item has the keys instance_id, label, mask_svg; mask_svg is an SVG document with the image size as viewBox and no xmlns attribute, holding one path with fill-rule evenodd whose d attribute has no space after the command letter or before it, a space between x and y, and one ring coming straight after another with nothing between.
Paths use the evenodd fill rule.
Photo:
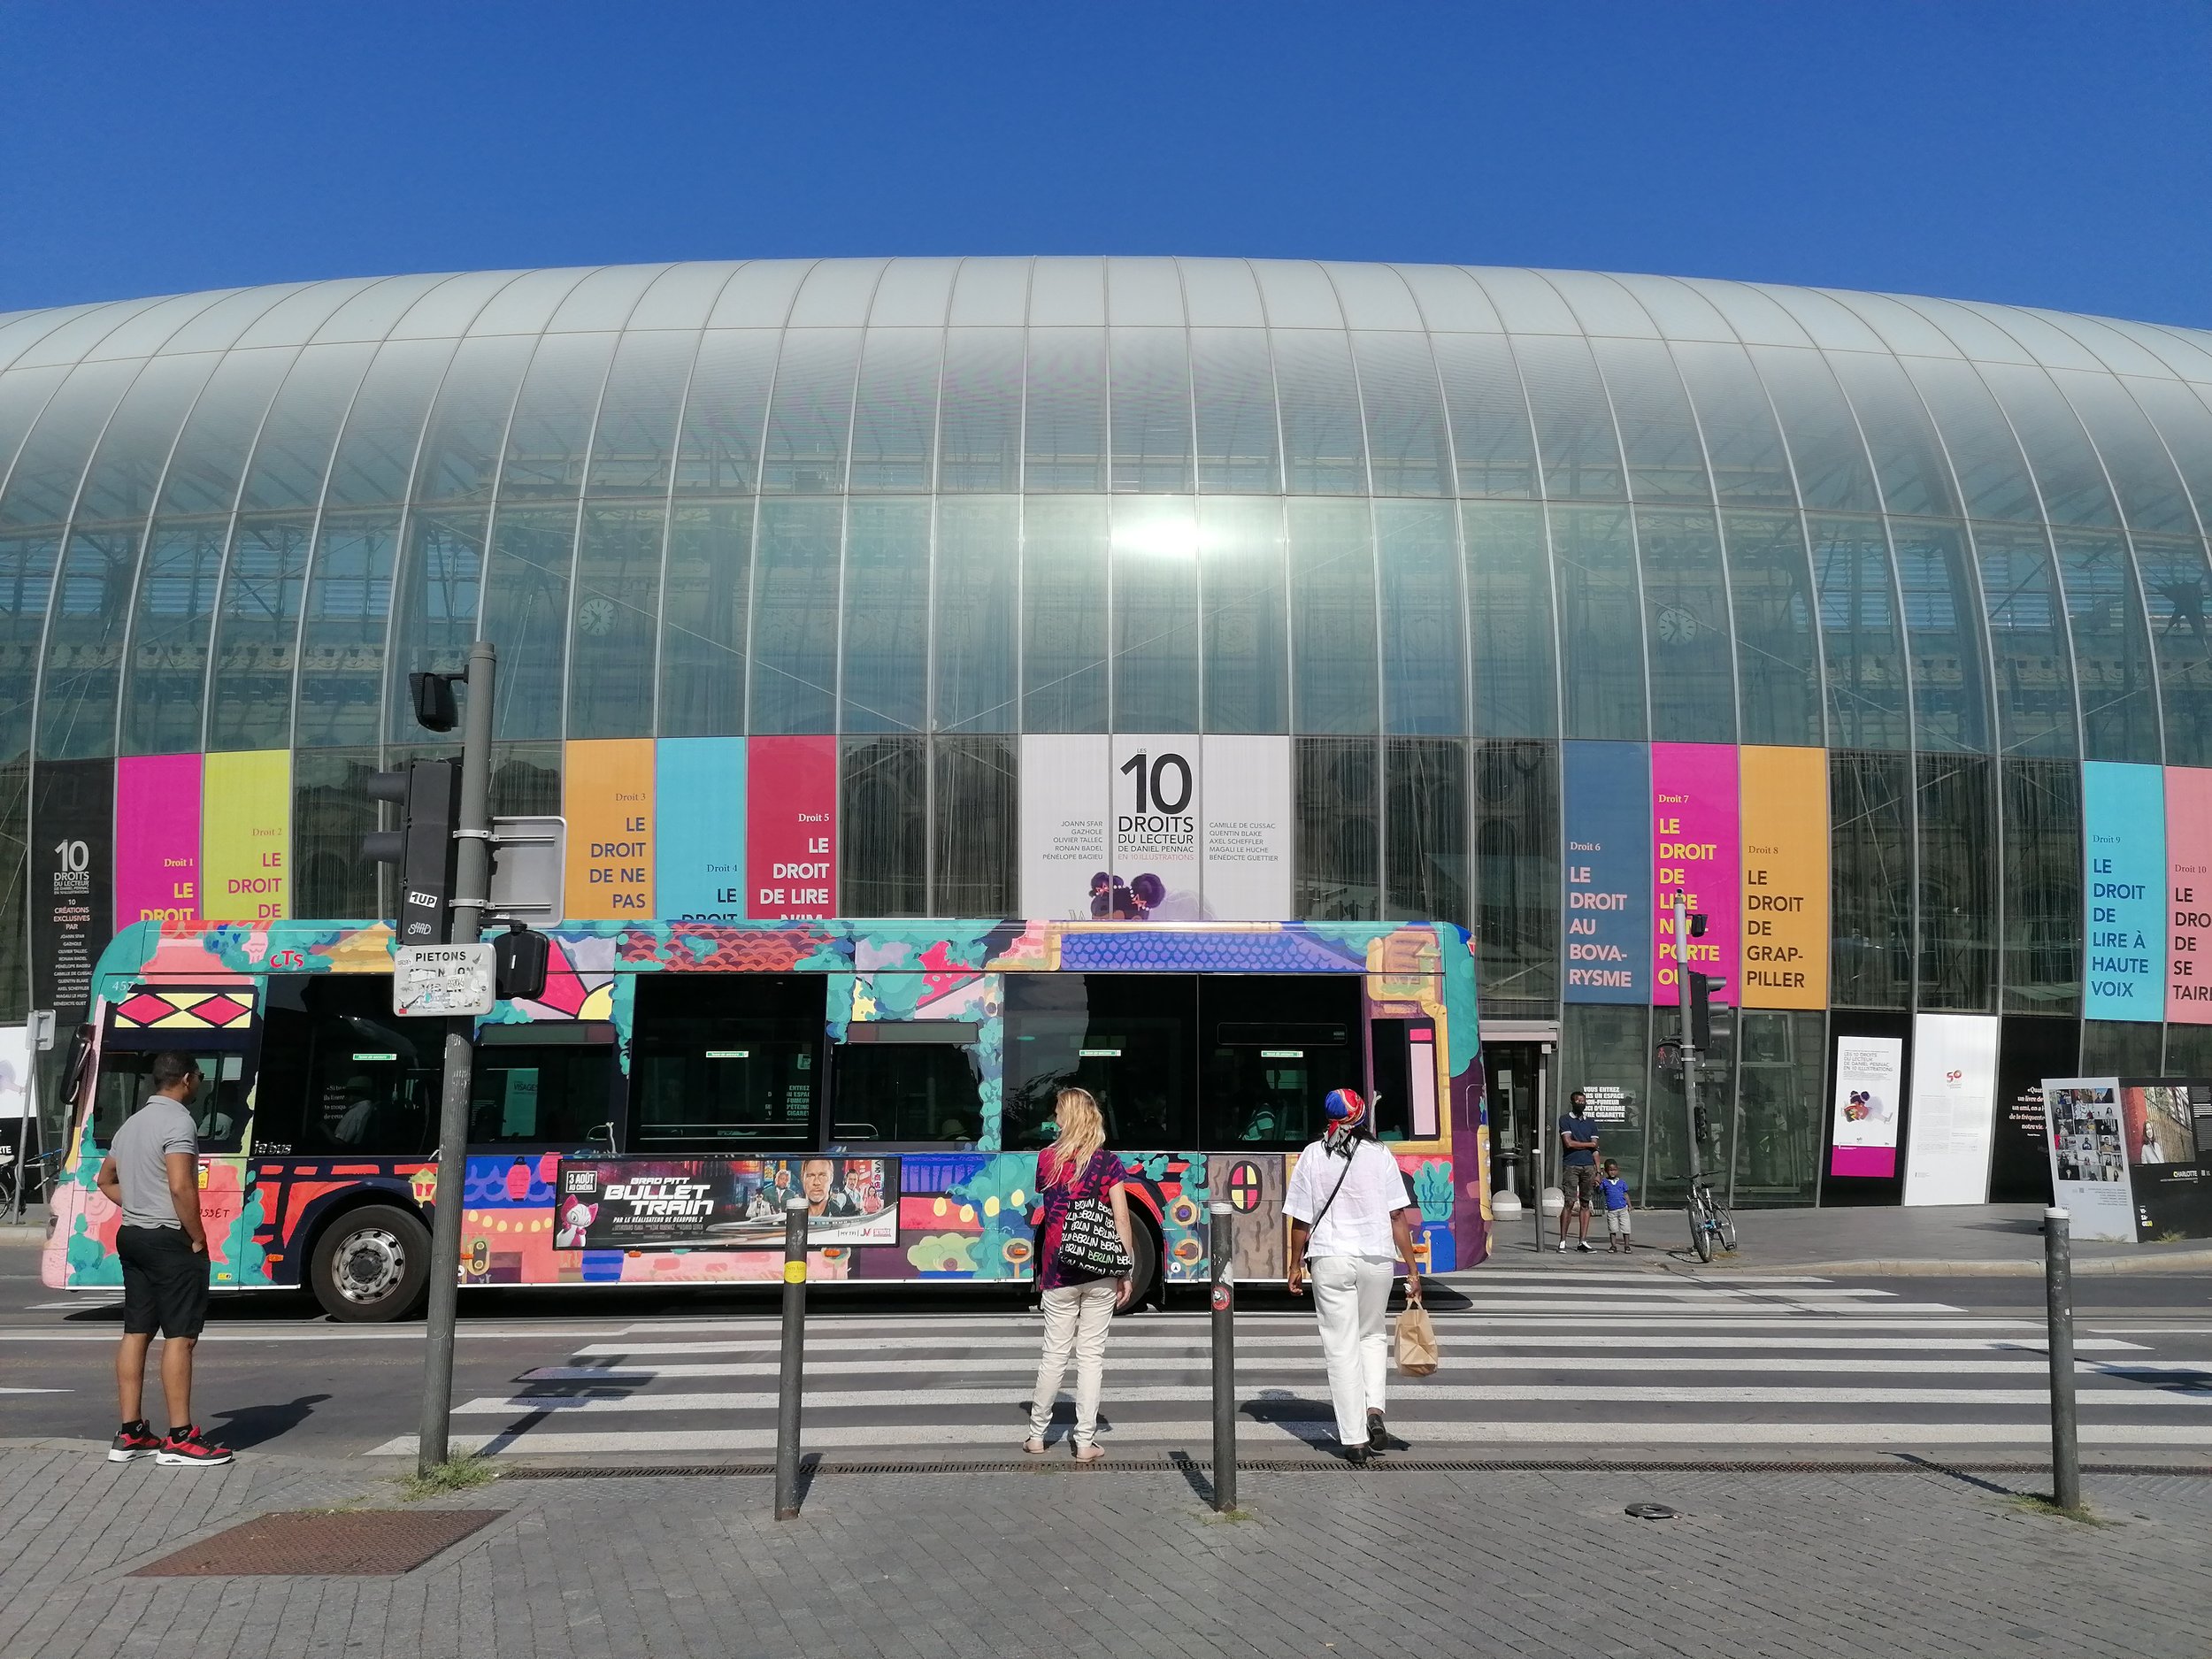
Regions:
<instances>
[{"instance_id":1,"label":"curved glass facade of the large building behind the bus","mask_svg":"<svg viewBox=\"0 0 2212 1659\"><path fill-rule=\"evenodd\" d=\"M2212 768L2205 513L2212 336L1885 294L847 259L0 316L0 1015L69 1002L62 909L148 909L181 757L192 883L259 836L290 914L376 914L361 776L482 633L507 812L577 743L834 737L847 914L1018 911L1024 737L1281 734L1294 907L1469 925L1489 1018L1663 1106L1652 987L1575 982L1577 754L1663 807L1732 752L1745 847L1825 785L1825 960L1728 1053L1739 1197L1807 1199L1847 1011L2212 1062L2179 940L2104 973L2086 823Z\"/></svg>"}]
</instances>

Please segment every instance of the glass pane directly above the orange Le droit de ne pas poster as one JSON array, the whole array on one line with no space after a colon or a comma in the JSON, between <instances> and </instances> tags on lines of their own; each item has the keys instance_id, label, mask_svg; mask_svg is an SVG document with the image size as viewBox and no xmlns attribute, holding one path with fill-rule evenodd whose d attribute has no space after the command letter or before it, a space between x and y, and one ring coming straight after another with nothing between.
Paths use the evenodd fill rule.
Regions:
<instances>
[{"instance_id":1,"label":"glass pane directly above the orange Le droit de ne pas poster","mask_svg":"<svg viewBox=\"0 0 2212 1659\"><path fill-rule=\"evenodd\" d=\"M672 431L670 411L670 431ZM602 434L606 425L602 422ZM639 465L653 465L639 458ZM593 456L593 473L599 456ZM653 637L659 630L659 500L586 500L575 555L575 633L568 670L568 737L653 734Z\"/></svg>"}]
</instances>

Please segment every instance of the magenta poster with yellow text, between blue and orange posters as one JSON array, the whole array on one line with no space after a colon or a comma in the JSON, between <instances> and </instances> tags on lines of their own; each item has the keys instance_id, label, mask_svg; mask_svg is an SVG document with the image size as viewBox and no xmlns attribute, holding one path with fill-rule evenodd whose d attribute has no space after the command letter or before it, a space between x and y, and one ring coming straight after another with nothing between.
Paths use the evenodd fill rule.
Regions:
<instances>
[{"instance_id":1,"label":"magenta poster with yellow text, between blue and orange posters","mask_svg":"<svg viewBox=\"0 0 2212 1659\"><path fill-rule=\"evenodd\" d=\"M1743 834L1734 743L1652 743L1652 1002L1681 1002L1674 975L1674 894L1703 914L1690 967L1728 982L1714 1002L1743 1000Z\"/></svg>"}]
</instances>

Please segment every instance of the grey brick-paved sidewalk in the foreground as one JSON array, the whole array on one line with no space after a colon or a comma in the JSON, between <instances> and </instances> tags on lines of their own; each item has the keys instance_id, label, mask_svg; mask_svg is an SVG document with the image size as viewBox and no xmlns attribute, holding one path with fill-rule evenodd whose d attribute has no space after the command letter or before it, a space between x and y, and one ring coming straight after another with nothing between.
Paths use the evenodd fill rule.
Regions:
<instances>
[{"instance_id":1,"label":"grey brick-paved sidewalk in the foreground","mask_svg":"<svg viewBox=\"0 0 2212 1659\"><path fill-rule=\"evenodd\" d=\"M396 1504L358 1467L111 1469L0 1449L0 1655L2163 1655L2212 1650L2212 1480L2093 1475L2110 1522L1911 1473L825 1473L502 1480L405 1577L144 1579L272 1509ZM2035 1478L2013 1480L2022 1491ZM1686 1511L1637 1522L1635 1500Z\"/></svg>"}]
</instances>

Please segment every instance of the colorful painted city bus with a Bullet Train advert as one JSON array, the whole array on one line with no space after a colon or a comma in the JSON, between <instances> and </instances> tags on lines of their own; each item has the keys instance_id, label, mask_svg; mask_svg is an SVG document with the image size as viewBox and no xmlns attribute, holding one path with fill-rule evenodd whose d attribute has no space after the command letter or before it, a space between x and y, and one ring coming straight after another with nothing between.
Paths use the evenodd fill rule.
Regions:
<instances>
[{"instance_id":1,"label":"colorful painted city bus with a Bullet Train advert","mask_svg":"<svg viewBox=\"0 0 2212 1659\"><path fill-rule=\"evenodd\" d=\"M1482 1261L1475 971L1449 925L571 922L544 995L478 1022L465 1285L781 1276L810 1201L823 1281L1026 1281L1037 1148L1091 1088L1146 1228L1139 1298L1283 1270L1287 1164L1329 1088L1376 1099L1427 1267ZM69 1068L44 1281L117 1285L93 1177L168 1048L199 1057L221 1290L334 1318L427 1287L442 1024L392 1013L380 922L139 922L100 958Z\"/></svg>"}]
</instances>

